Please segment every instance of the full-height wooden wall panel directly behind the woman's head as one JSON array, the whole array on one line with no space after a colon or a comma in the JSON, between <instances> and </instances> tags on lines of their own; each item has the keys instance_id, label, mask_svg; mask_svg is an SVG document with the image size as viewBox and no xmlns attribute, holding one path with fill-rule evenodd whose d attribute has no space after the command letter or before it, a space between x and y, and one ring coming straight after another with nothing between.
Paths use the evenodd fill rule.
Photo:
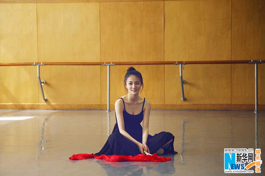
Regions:
<instances>
[{"instance_id":1,"label":"full-height wooden wall panel directly behind the woman's head","mask_svg":"<svg viewBox=\"0 0 265 176\"><path fill-rule=\"evenodd\" d=\"M163 1L100 3L101 61L164 61ZM125 94L125 71L111 66L111 104ZM164 103L163 66L135 66L143 75L141 94ZM101 67L101 103L107 102L107 67ZM155 89L154 89L155 86Z\"/></svg>"}]
</instances>

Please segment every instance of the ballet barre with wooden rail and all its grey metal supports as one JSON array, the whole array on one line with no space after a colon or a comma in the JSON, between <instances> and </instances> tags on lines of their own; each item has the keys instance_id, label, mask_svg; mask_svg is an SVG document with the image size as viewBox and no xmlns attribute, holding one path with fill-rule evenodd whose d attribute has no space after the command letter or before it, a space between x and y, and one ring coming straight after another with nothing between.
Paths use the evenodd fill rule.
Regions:
<instances>
[{"instance_id":1,"label":"ballet barre with wooden rail and all its grey metal supports","mask_svg":"<svg viewBox=\"0 0 265 176\"><path fill-rule=\"evenodd\" d=\"M0 66L37 66L37 77L39 81L40 90L42 93L42 100L47 101L44 97L42 85L46 84L46 81L41 81L39 66L44 65L103 65L107 66L107 111L110 112L110 66L115 65L179 65L180 66L180 84L182 101L187 99L184 96L185 80L182 77L182 67L187 64L255 64L255 113L258 110L258 64L263 64L265 60L209 60L209 61L152 61L152 62L20 62L20 63L0 63Z\"/></svg>"}]
</instances>

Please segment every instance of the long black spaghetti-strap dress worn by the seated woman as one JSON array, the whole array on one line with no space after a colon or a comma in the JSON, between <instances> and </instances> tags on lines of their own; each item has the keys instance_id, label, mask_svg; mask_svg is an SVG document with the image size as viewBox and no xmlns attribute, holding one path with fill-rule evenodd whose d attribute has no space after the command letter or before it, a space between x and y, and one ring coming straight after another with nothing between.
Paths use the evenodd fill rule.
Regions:
<instances>
[{"instance_id":1,"label":"long black spaghetti-strap dress worn by the seated woman","mask_svg":"<svg viewBox=\"0 0 265 176\"><path fill-rule=\"evenodd\" d=\"M122 99L122 98L120 98ZM123 104L124 100L122 99ZM145 104L145 98L143 101L143 107ZM95 153L95 155L138 155L141 154L139 151L138 146L127 139L125 136L122 136L122 134L119 131L118 123L117 123L117 117L115 113L116 123L113 128L112 133L107 139L107 142L103 146L103 148L98 152ZM136 141L142 143L143 139L143 127L141 126L141 122L143 121L143 108L142 111L137 115L132 115L127 113L125 110L125 104L124 104L124 111L123 111L123 119L124 119L124 127L125 131L129 133ZM173 134L169 132L162 131L158 134L155 134L154 136L151 136L148 134L146 145L148 146L150 153L154 154L156 151L158 151L159 148L161 148L163 145L168 143L172 139L172 141L169 143L169 145L166 145L166 148L162 147L164 149L164 153L173 153L177 154L178 152L174 151L174 138ZM93 154L93 153L92 153Z\"/></svg>"}]
</instances>

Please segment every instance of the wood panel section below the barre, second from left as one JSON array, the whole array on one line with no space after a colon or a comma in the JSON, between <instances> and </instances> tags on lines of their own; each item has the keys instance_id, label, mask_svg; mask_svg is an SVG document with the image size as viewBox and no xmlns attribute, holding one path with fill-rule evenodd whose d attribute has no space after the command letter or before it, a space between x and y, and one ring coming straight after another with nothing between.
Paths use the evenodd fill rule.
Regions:
<instances>
[{"instance_id":1,"label":"wood panel section below the barre, second from left","mask_svg":"<svg viewBox=\"0 0 265 176\"><path fill-rule=\"evenodd\" d=\"M47 104L100 104L100 66L41 66L40 77Z\"/></svg>"}]
</instances>

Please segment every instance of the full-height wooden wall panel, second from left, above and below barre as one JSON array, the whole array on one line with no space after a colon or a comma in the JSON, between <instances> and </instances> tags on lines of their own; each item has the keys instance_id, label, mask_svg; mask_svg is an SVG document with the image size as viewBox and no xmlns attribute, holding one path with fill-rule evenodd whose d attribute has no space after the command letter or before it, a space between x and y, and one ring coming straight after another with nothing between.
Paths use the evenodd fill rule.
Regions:
<instances>
[{"instance_id":1,"label":"full-height wooden wall panel, second from left, above and below barre","mask_svg":"<svg viewBox=\"0 0 265 176\"><path fill-rule=\"evenodd\" d=\"M37 13L39 62L100 61L99 3L37 4ZM100 104L100 66L44 66L41 78L47 104Z\"/></svg>"}]
</instances>

